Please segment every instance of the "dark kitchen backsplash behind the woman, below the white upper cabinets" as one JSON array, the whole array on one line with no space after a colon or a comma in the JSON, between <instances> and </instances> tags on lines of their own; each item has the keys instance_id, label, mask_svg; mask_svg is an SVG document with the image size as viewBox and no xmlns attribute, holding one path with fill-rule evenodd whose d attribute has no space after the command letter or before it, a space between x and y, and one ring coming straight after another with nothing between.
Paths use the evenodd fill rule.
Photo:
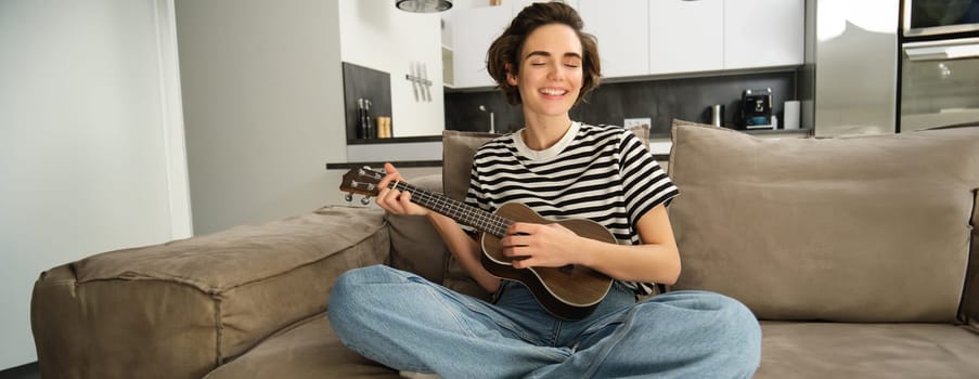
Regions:
<instances>
[{"instance_id":1,"label":"dark kitchen backsplash behind the woman, below the white upper cabinets","mask_svg":"<svg viewBox=\"0 0 979 379\"><path fill-rule=\"evenodd\" d=\"M724 126L734 128L742 92L763 88L772 89L774 114L782 120L783 103L798 99L796 71L791 70L602 83L589 94L588 103L581 103L571 109L571 119L588 123L622 125L626 118L650 118L652 134L667 135L673 118L706 123L710 121L709 107L723 104ZM493 112L497 132L523 128L524 114L519 106L507 104L499 91L485 91L447 92L446 129L489 130L489 114L480 112L480 105Z\"/></svg>"}]
</instances>

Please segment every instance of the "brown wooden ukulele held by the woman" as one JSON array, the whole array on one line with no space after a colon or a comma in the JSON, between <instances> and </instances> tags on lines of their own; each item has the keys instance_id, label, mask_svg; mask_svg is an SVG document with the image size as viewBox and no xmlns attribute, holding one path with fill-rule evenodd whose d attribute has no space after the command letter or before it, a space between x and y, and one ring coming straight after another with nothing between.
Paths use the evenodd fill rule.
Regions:
<instances>
[{"instance_id":1,"label":"brown wooden ukulele held by the woman","mask_svg":"<svg viewBox=\"0 0 979 379\"><path fill-rule=\"evenodd\" d=\"M351 194L377 196L383 178L383 171L368 167L351 169L344 174L340 191L347 192L348 198ZM518 202L507 202L495 213L490 213L443 194L421 190L404 182L388 183L388 188L410 193L412 202L480 231L478 241L482 248L480 257L482 266L497 277L523 283L530 289L537 302L558 318L587 317L611 288L610 277L583 265L515 269L512 262L521 258L504 256L503 246L500 244L500 239L506 236L506 231L514 222L557 223L579 236L616 244L615 236L596 222L583 219L551 221Z\"/></svg>"}]
</instances>

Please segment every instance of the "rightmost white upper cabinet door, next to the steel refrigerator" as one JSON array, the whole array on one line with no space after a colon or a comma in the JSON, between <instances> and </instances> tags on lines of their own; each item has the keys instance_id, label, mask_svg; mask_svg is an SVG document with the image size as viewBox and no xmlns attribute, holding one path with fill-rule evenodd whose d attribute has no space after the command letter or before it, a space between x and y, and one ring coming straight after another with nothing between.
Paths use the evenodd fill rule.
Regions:
<instances>
[{"instance_id":1,"label":"rightmost white upper cabinet door, next to the steel refrigerator","mask_svg":"<svg viewBox=\"0 0 979 379\"><path fill-rule=\"evenodd\" d=\"M803 0L724 0L724 68L801 65Z\"/></svg>"}]
</instances>

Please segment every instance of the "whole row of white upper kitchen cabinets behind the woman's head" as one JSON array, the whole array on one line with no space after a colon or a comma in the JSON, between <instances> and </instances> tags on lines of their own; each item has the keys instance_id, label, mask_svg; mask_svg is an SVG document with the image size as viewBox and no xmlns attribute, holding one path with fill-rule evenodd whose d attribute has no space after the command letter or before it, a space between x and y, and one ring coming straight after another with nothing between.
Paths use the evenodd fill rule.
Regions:
<instances>
[{"instance_id":1,"label":"whole row of white upper kitchen cabinets behind the woman's head","mask_svg":"<svg viewBox=\"0 0 979 379\"><path fill-rule=\"evenodd\" d=\"M486 52L533 0L453 10L455 88L493 86ZM763 69L803 63L803 0L577 0L605 78Z\"/></svg>"}]
</instances>

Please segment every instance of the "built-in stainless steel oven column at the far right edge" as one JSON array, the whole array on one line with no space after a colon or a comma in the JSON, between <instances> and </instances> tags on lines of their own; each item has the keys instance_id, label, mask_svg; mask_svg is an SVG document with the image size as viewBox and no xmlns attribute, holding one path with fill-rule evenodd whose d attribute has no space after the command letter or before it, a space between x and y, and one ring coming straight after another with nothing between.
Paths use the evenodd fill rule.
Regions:
<instances>
[{"instance_id":1,"label":"built-in stainless steel oven column at the far right edge","mask_svg":"<svg viewBox=\"0 0 979 379\"><path fill-rule=\"evenodd\" d=\"M979 0L904 0L899 131L979 121Z\"/></svg>"}]
</instances>

